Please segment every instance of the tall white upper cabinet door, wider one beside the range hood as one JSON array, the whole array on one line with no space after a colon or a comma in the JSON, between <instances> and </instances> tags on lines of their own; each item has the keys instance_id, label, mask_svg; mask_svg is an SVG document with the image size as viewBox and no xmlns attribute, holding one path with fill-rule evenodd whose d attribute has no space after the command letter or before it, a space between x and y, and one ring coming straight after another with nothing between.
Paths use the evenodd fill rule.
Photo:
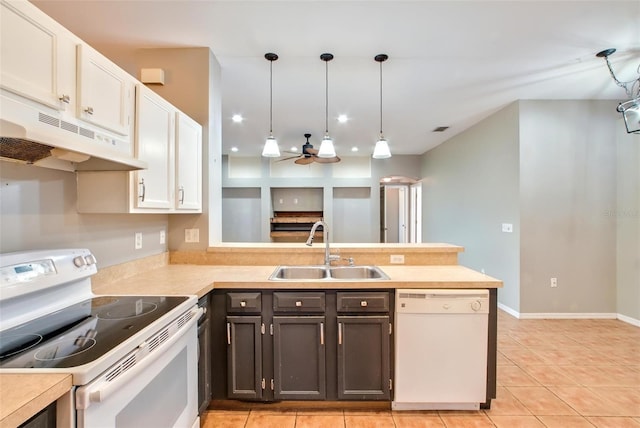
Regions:
<instances>
[{"instance_id":1,"label":"tall white upper cabinet door, wider one beside the range hood","mask_svg":"<svg viewBox=\"0 0 640 428\"><path fill-rule=\"evenodd\" d=\"M136 157L148 168L135 176L137 208L171 208L175 107L143 85L136 88Z\"/></svg>"}]
</instances>

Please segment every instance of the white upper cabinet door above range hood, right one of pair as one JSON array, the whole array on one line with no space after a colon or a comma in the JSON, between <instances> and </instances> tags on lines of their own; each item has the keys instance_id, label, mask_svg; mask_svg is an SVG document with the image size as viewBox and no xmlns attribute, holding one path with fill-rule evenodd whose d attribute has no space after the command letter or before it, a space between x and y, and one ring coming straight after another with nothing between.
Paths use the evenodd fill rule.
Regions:
<instances>
[{"instance_id":1,"label":"white upper cabinet door above range hood, right one of pair","mask_svg":"<svg viewBox=\"0 0 640 428\"><path fill-rule=\"evenodd\" d=\"M88 45L78 45L78 117L129 135L133 77Z\"/></svg>"}]
</instances>

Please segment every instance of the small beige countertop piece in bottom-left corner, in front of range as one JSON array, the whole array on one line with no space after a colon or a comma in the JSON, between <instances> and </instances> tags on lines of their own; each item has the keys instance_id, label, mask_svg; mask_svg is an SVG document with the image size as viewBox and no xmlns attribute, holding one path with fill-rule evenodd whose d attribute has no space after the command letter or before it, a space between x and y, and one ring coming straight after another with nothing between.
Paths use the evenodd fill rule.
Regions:
<instances>
[{"instance_id":1,"label":"small beige countertop piece in bottom-left corner, in front of range","mask_svg":"<svg viewBox=\"0 0 640 428\"><path fill-rule=\"evenodd\" d=\"M2 374L0 427L16 427L71 389L71 375Z\"/></svg>"}]
</instances>

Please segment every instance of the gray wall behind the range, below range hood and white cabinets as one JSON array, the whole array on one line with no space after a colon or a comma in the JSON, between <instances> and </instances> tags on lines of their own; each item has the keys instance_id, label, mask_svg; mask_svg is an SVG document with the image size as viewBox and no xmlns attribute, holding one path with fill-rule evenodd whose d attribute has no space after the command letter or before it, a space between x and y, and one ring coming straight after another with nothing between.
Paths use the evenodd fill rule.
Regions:
<instances>
[{"instance_id":1,"label":"gray wall behind the range, below range hood and white cabinets","mask_svg":"<svg viewBox=\"0 0 640 428\"><path fill-rule=\"evenodd\" d=\"M108 191L101 189L100 191ZM162 214L78 214L74 173L0 162L0 253L50 248L88 248L99 267L167 250ZM134 235L142 233L142 249Z\"/></svg>"}]
</instances>

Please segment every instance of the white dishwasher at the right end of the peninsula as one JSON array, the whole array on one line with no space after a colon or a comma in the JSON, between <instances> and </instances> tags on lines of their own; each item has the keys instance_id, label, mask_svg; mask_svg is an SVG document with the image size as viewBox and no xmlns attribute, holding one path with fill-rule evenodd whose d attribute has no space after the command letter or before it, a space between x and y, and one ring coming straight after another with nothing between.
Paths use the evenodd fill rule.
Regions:
<instances>
[{"instance_id":1,"label":"white dishwasher at the right end of the peninsula","mask_svg":"<svg viewBox=\"0 0 640 428\"><path fill-rule=\"evenodd\" d=\"M486 401L489 290L396 290L394 410Z\"/></svg>"}]
</instances>

